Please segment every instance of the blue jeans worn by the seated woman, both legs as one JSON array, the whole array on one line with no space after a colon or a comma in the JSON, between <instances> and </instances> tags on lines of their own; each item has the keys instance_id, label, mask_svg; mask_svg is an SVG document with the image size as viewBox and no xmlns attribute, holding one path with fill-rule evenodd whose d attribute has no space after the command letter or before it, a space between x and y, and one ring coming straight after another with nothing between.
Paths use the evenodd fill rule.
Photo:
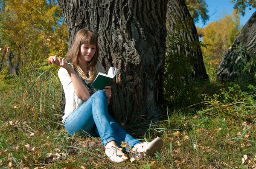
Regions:
<instances>
[{"instance_id":1,"label":"blue jeans worn by the seated woman, both legs","mask_svg":"<svg viewBox=\"0 0 256 169\"><path fill-rule=\"evenodd\" d=\"M128 135L108 114L108 99L103 90L96 91L74 110L66 118L64 126L70 135L77 132L90 132L99 136L103 146L110 141L116 141L117 146L120 146L121 141L124 141L133 148L140 143Z\"/></svg>"}]
</instances>

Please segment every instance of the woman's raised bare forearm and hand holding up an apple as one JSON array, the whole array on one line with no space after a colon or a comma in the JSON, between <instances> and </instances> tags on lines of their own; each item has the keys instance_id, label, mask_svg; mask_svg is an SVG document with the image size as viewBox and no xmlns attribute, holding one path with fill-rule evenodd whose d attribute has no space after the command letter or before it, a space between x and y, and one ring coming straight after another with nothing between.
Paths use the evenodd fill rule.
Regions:
<instances>
[{"instance_id":1,"label":"woman's raised bare forearm and hand holding up an apple","mask_svg":"<svg viewBox=\"0 0 256 169\"><path fill-rule=\"evenodd\" d=\"M90 98L90 93L88 91L88 89L84 86L83 82L81 81L81 79L79 78L79 76L77 76L75 70L72 68L72 66L70 64L68 64L67 62L65 62L66 58L60 57L60 58L56 58L56 55L52 58L51 62L52 65L57 65L60 66L61 68L65 68L71 78L71 81L73 82L73 86L75 89L75 93L76 96L79 99L82 99L84 101L87 101Z\"/></svg>"}]
</instances>

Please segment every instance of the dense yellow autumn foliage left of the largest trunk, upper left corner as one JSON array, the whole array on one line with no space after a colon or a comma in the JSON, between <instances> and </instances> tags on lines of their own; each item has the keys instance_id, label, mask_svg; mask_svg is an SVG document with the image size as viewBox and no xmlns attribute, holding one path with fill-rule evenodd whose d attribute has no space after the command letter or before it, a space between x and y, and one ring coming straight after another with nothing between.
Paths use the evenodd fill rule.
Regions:
<instances>
[{"instance_id":1,"label":"dense yellow autumn foliage left of the largest trunk, upper left corner","mask_svg":"<svg viewBox=\"0 0 256 169\"><path fill-rule=\"evenodd\" d=\"M55 1L5 0L0 13L0 39L27 64L50 54L65 56L67 26Z\"/></svg>"}]
</instances>

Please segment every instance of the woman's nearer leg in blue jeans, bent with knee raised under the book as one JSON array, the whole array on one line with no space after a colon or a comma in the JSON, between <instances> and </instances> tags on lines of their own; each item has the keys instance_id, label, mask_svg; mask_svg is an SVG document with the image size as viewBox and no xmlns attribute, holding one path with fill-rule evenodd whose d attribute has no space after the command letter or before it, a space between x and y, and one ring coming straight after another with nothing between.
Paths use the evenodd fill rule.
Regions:
<instances>
[{"instance_id":1,"label":"woman's nearer leg in blue jeans, bent with knee raised under the book","mask_svg":"<svg viewBox=\"0 0 256 169\"><path fill-rule=\"evenodd\" d=\"M99 135L105 146L109 141L116 141L108 119L108 99L103 90L94 93L79 108L73 111L64 122L69 134L76 132L91 132ZM93 127L99 132L94 133Z\"/></svg>"}]
</instances>

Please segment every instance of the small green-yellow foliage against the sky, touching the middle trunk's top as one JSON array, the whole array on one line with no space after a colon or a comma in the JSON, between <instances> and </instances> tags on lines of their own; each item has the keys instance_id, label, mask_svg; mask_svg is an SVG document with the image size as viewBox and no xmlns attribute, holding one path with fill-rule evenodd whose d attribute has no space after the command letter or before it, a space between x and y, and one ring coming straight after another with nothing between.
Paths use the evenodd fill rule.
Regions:
<instances>
[{"instance_id":1,"label":"small green-yellow foliage against the sky, touching the middle trunk's top","mask_svg":"<svg viewBox=\"0 0 256 169\"><path fill-rule=\"evenodd\" d=\"M195 23L199 21L199 16L201 16L202 22L209 19L205 0L186 0L186 5Z\"/></svg>"}]
</instances>

